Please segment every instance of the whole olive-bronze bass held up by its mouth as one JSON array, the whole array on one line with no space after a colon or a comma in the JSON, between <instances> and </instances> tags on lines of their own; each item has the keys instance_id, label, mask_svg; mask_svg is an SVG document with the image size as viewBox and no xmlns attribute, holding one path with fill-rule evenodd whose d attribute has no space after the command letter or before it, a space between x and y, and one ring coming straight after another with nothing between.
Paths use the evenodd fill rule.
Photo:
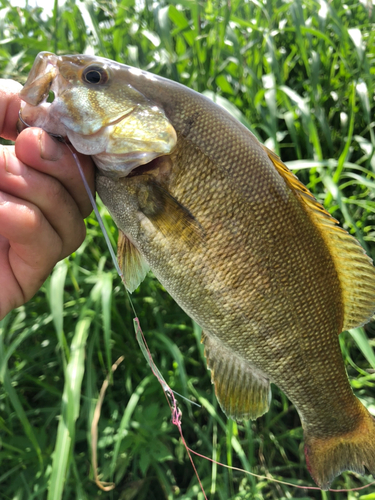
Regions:
<instances>
[{"instance_id":1,"label":"whole olive-bronze bass held up by its mouth","mask_svg":"<svg viewBox=\"0 0 375 500\"><path fill-rule=\"evenodd\" d=\"M339 345L375 310L375 270L358 241L246 127L179 83L42 52L20 96L26 123L92 156L128 290L151 269L202 327L223 412L258 418L276 384L298 411L321 489L345 470L375 475L375 420Z\"/></svg>"}]
</instances>

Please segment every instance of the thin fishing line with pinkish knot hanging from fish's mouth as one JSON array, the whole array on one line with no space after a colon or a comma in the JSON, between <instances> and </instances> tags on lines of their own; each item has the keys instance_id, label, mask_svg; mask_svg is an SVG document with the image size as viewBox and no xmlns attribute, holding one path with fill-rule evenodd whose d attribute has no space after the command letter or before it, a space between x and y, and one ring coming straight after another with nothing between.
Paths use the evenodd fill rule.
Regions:
<instances>
[{"instance_id":1,"label":"thin fishing line with pinkish knot hanging from fish's mouth","mask_svg":"<svg viewBox=\"0 0 375 500\"><path fill-rule=\"evenodd\" d=\"M29 125L22 119L22 116L21 116L21 110L19 112L19 118L20 118L20 121L26 126L26 127L29 127ZM77 154L75 153L75 151L70 147L70 145L65 141L65 139L62 137L62 136L57 136L57 135L54 135L54 134L50 134L52 135L53 137L56 137L57 139L59 139L61 142L63 142L68 150L70 151L70 153L72 154L75 162L76 162L76 165L78 167L78 171L80 173L80 176L82 178L82 182L85 186L85 189L87 191L87 195L90 199L90 202L91 202L91 205L93 207L93 210L95 212L95 215L97 217L97 220L98 220L98 223L99 223L99 226L103 232L103 235L104 235L104 238L105 238L105 241L107 243L107 246L108 246L108 249L109 249L109 252L111 254L111 258L112 258L112 261L113 261L113 264L115 266L115 269L119 275L119 277L121 278L121 281L123 282L124 284L124 287L125 287L125 291L126 291L126 295L127 295L127 298L129 300L129 303L130 303L130 306L132 308L132 311L133 311L133 314L134 314L134 318L133 318L133 325L134 325L134 330L135 330L135 336L136 336L136 339L137 339L137 342L140 346L140 349L141 349L141 352L143 354L143 356L145 357L145 359L147 360L147 363L149 364L150 368L151 368L151 371L152 373L154 374L154 376L157 378L158 382L160 383L162 389L163 389L163 392L164 392L164 395L166 397L166 400L167 400L167 403L168 403L168 406L171 410L171 415L172 415L172 424L175 425L178 430L179 430L179 433L180 433L180 437L181 437L181 441L186 449L186 452L188 454L188 457L190 459L190 462L192 464L192 467L193 467L193 470L194 470L194 473L198 479L198 482L199 482L199 486L201 488L201 491L203 493L203 496L205 498L205 500L208 500L207 499L207 496L206 496L206 493L205 493L205 490L203 488L203 485L202 485L202 482L200 480L200 477L199 477L199 474L198 474L198 471L196 469L196 466L194 464L194 460L193 460L193 457L192 455L196 455L200 458L204 458L205 460L208 460L209 462L212 462L212 463L215 463L221 467L225 467L227 469L231 469L231 470L235 470L235 471L238 471L238 472L241 472L241 473L244 473L244 474L247 474L247 475L250 475L250 476L253 476L253 477L256 477L258 479L265 479L267 481L271 481L271 482L274 482L274 483L278 483L278 484L283 484L285 486L290 486L290 487L293 487L293 488L298 488L298 489L304 489L304 490L319 490L321 491L321 489L318 487L318 486L301 486L301 485L296 485L296 484L293 484L293 483L289 483L289 482L286 482L286 481L281 481L279 479L274 479L274 478L270 478L270 477L267 477L267 476L262 476L262 475L259 475L259 474L255 474L253 472L249 472L249 471L246 471L244 469L241 469L241 468L238 468L238 467L233 467L233 466L230 466L230 465L227 465L227 464L223 464L221 462L218 462L216 460L213 460L212 458L209 458L209 457L206 457L205 455L201 455L200 453L192 450L186 443L186 440L184 438L184 435L183 435L183 431L182 431L182 411L179 409L178 407L178 402L175 398L175 394L177 394L178 396L182 397L183 399L189 401L190 403L192 404L195 404L197 406L200 406L199 404L195 403L194 401L190 401L188 398L185 398L184 396L182 396L181 394L178 394L176 393L175 391L173 391L169 385L167 384L167 382L165 381L164 377L162 376L162 374L160 373L159 369L157 368L153 358L152 358L152 354L150 352L150 349L147 345L147 341L146 341L146 338L143 334L143 331L142 331L142 328L141 328L141 325L140 325L140 322L139 322L139 319L138 319L138 316L137 316L137 313L136 313L136 310L135 310L135 307L134 307L134 304L131 300L131 297L130 297L130 294L129 294L129 291L127 290L126 288L126 283L125 283L125 278L124 278L124 275L120 269L120 266L118 264L118 261L117 261L117 258L116 258L116 255L115 255L115 252L113 250L113 247L112 247L112 244L110 242L110 239L109 239L109 236L108 236L108 233L106 231L106 228L104 226L104 223L103 223L103 220L100 216L100 213L99 213L99 210L98 210L98 207L96 205L96 202L95 202L95 199L91 193L91 190L90 190L90 187L87 183L87 180L86 180L86 177L83 173L83 169L81 167L81 163L79 161L79 158L77 156ZM117 366L116 366L117 367ZM369 486L372 486L373 484L375 484L375 481L369 483L369 484L366 484L365 486L360 486L358 488L351 488L351 489L329 489L328 491L331 491L333 493L346 493L346 492L350 492L350 491L360 491L360 490L364 490L366 488L368 488ZM109 486L110 489L112 489L112 484Z\"/></svg>"}]
</instances>

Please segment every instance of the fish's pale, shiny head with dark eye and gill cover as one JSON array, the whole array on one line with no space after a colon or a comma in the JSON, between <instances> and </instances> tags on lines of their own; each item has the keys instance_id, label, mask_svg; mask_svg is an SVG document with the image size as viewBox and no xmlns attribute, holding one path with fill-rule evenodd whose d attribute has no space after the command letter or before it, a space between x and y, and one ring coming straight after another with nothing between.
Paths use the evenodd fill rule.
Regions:
<instances>
[{"instance_id":1,"label":"fish's pale, shiny head with dark eye and gill cover","mask_svg":"<svg viewBox=\"0 0 375 500\"><path fill-rule=\"evenodd\" d=\"M132 69L97 56L41 52L20 93L21 118L67 138L105 175L125 177L177 142L163 109L129 83Z\"/></svg>"}]
</instances>

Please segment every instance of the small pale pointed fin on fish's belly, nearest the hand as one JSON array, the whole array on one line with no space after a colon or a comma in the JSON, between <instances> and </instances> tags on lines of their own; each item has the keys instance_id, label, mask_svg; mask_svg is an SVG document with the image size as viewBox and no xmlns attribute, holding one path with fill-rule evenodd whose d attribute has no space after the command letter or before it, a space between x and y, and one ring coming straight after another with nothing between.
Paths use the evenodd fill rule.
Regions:
<instances>
[{"instance_id":1,"label":"small pale pointed fin on fish's belly, nearest the hand","mask_svg":"<svg viewBox=\"0 0 375 500\"><path fill-rule=\"evenodd\" d=\"M145 279L150 267L133 243L119 230L117 242L117 258L126 288L130 293Z\"/></svg>"}]
</instances>

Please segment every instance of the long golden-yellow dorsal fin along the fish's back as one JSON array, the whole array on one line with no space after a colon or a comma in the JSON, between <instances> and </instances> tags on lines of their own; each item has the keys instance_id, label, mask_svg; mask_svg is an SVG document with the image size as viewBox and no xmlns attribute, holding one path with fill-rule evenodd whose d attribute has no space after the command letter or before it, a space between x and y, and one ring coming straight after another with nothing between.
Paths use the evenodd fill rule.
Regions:
<instances>
[{"instance_id":1,"label":"long golden-yellow dorsal fin along the fish's back","mask_svg":"<svg viewBox=\"0 0 375 500\"><path fill-rule=\"evenodd\" d=\"M272 151L263 146L277 171L302 201L308 215L319 229L336 267L344 305L343 330L362 326L375 313L375 268L358 243L339 227L310 191L292 174Z\"/></svg>"}]
</instances>

